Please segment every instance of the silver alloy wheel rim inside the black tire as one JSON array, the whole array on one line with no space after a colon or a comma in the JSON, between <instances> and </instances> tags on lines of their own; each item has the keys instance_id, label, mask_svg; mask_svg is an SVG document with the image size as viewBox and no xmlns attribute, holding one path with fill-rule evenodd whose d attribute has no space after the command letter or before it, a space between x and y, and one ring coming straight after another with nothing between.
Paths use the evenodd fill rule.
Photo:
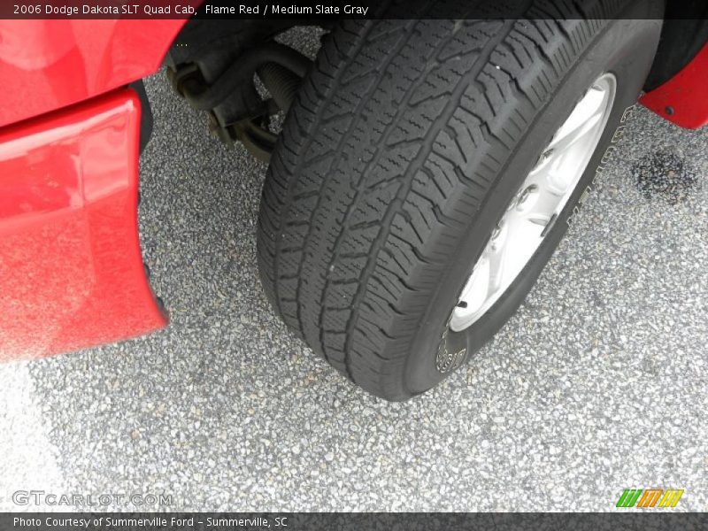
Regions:
<instances>
[{"instance_id":1,"label":"silver alloy wheel rim inside the black tire","mask_svg":"<svg viewBox=\"0 0 708 531\"><path fill-rule=\"evenodd\" d=\"M553 135L489 236L452 310L451 330L480 319L534 257L600 142L616 89L614 74L598 77Z\"/></svg>"}]
</instances>

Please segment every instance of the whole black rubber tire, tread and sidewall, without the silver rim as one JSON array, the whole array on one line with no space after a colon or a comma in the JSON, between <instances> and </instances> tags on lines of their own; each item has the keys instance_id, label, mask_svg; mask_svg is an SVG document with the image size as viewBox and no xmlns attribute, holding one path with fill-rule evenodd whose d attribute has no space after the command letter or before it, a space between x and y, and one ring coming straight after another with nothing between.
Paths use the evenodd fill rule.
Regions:
<instances>
[{"instance_id":1,"label":"whole black rubber tire, tread and sidewall, without the silver rim","mask_svg":"<svg viewBox=\"0 0 708 531\"><path fill-rule=\"evenodd\" d=\"M521 304L657 48L661 22L643 11L651 3L620 15L604 4L586 19L558 12L570 15L563 22L345 21L327 36L266 175L258 261L273 308L351 381L393 401L422 393ZM607 72L614 103L558 216L567 223L552 224L480 319L452 331L451 312L519 184Z\"/></svg>"}]
</instances>

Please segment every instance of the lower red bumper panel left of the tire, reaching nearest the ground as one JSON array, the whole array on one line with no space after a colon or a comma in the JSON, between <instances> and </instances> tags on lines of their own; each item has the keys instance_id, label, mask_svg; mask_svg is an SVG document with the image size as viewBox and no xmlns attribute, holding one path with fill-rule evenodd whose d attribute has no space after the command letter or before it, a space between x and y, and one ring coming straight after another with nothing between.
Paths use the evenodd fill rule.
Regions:
<instances>
[{"instance_id":1,"label":"lower red bumper panel left of the tire, reaching nearest the ground","mask_svg":"<svg viewBox=\"0 0 708 531\"><path fill-rule=\"evenodd\" d=\"M138 242L139 127L121 89L0 132L0 360L165 326Z\"/></svg>"}]
</instances>

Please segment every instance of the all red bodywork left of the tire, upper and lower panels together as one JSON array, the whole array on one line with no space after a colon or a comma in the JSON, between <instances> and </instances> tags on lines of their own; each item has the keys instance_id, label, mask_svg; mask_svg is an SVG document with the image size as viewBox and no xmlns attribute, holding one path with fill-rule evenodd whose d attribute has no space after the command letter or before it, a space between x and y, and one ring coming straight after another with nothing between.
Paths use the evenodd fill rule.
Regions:
<instances>
[{"instance_id":1,"label":"all red bodywork left of the tire, upper and lower panels together","mask_svg":"<svg viewBox=\"0 0 708 531\"><path fill-rule=\"evenodd\" d=\"M140 104L121 87L185 22L0 20L0 360L165 326L138 242Z\"/></svg>"}]
</instances>

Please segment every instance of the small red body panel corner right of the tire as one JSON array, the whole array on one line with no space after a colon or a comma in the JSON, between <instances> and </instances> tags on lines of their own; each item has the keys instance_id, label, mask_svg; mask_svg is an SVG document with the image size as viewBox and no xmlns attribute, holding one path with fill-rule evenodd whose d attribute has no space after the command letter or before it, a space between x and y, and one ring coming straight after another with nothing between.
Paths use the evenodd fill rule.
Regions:
<instances>
[{"instance_id":1,"label":"small red body panel corner right of the tire","mask_svg":"<svg viewBox=\"0 0 708 531\"><path fill-rule=\"evenodd\" d=\"M697 129L708 124L708 44L681 72L639 101L677 126Z\"/></svg>"}]
</instances>

